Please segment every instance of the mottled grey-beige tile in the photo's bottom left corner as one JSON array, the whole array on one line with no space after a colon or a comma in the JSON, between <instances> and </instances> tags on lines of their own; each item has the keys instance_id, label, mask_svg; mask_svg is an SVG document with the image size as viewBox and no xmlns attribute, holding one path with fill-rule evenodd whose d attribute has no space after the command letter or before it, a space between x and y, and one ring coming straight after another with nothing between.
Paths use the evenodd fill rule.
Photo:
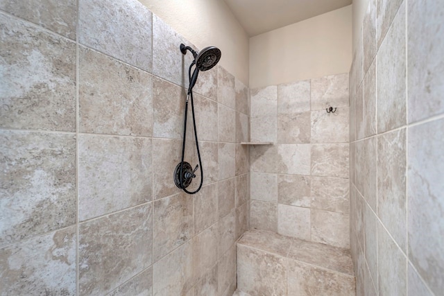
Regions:
<instances>
[{"instance_id":1,"label":"mottled grey-beige tile in the photo's bottom left corner","mask_svg":"<svg viewBox=\"0 0 444 296\"><path fill-rule=\"evenodd\" d=\"M1 295L75 295L76 227L3 247L0 270Z\"/></svg>"}]
</instances>

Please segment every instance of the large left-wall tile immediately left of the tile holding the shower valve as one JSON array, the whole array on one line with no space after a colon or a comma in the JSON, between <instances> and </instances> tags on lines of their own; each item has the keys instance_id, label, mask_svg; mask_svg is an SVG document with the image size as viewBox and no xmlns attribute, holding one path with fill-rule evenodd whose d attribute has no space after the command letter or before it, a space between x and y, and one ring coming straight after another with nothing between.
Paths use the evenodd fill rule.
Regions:
<instances>
[{"instance_id":1,"label":"large left-wall tile immediately left of the tile holding the shower valve","mask_svg":"<svg viewBox=\"0 0 444 296\"><path fill-rule=\"evenodd\" d=\"M80 135L78 216L87 220L150 202L151 139Z\"/></svg>"}]
</instances>

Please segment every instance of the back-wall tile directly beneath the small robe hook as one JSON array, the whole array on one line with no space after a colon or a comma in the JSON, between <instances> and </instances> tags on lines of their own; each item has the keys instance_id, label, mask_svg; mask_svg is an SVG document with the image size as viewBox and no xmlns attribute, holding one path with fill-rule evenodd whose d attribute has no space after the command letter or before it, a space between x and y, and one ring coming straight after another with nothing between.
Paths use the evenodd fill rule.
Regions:
<instances>
[{"instance_id":1,"label":"back-wall tile directly beneath the small robe hook","mask_svg":"<svg viewBox=\"0 0 444 296\"><path fill-rule=\"evenodd\" d=\"M349 112L348 108L311 111L311 143L348 143Z\"/></svg>"}]
</instances>

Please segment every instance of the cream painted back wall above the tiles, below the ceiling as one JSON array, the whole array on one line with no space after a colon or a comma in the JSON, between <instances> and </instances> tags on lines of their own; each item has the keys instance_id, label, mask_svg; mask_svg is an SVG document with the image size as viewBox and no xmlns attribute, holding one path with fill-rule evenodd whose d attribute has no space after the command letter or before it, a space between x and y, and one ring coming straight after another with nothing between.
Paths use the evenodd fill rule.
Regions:
<instances>
[{"instance_id":1,"label":"cream painted back wall above the tiles, below the ceiling","mask_svg":"<svg viewBox=\"0 0 444 296\"><path fill-rule=\"evenodd\" d=\"M250 38L250 88L346 73L352 6Z\"/></svg>"}]
</instances>

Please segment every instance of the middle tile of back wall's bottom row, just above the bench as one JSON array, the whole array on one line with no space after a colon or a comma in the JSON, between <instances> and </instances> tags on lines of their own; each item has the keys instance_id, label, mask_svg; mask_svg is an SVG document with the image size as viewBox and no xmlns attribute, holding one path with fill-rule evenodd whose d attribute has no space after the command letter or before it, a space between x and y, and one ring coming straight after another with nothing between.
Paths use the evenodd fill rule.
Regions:
<instances>
[{"instance_id":1,"label":"middle tile of back wall's bottom row, just above the bench","mask_svg":"<svg viewBox=\"0 0 444 296\"><path fill-rule=\"evenodd\" d=\"M278 204L278 234L310 239L310 209Z\"/></svg>"}]
</instances>

